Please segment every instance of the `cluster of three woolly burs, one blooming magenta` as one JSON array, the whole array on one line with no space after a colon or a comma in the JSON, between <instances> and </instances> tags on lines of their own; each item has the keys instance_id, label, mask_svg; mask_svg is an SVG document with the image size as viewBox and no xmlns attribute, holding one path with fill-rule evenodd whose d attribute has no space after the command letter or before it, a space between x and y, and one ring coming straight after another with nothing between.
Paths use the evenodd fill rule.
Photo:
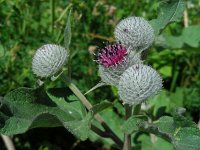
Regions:
<instances>
[{"instance_id":1,"label":"cluster of three woolly burs, one blooming magenta","mask_svg":"<svg viewBox=\"0 0 200 150\"><path fill-rule=\"evenodd\" d=\"M141 17L128 17L117 24L115 38L116 44L97 55L99 75L103 82L118 88L124 104L140 104L162 88L162 78L140 58L154 41L153 28Z\"/></svg>"}]
</instances>

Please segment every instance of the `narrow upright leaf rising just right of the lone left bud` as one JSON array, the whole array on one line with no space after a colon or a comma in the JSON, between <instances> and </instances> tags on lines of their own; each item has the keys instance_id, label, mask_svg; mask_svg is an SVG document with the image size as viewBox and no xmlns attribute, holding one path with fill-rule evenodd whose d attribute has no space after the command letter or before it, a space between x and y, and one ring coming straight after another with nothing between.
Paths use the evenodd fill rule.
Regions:
<instances>
[{"instance_id":1,"label":"narrow upright leaf rising just right of the lone left bud","mask_svg":"<svg viewBox=\"0 0 200 150\"><path fill-rule=\"evenodd\" d=\"M67 16L67 23L65 26L65 32L64 32L64 44L65 48L69 49L69 45L71 43L71 21L70 21L70 16L71 16L71 9L69 10L69 14Z\"/></svg>"}]
</instances>

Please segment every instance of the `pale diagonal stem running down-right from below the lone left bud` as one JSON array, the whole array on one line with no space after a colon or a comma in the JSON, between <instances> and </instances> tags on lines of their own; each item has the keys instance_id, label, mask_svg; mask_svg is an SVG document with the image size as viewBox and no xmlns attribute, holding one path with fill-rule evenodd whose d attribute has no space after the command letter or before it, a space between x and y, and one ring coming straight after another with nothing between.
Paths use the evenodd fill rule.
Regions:
<instances>
[{"instance_id":1,"label":"pale diagonal stem running down-right from below the lone left bud","mask_svg":"<svg viewBox=\"0 0 200 150\"><path fill-rule=\"evenodd\" d=\"M81 91L71 82L68 82L66 76L62 75L62 79L65 83L67 83L68 87L72 90L72 92L79 98L79 100L83 103L83 105L90 110L92 108L91 103L87 100L87 98L81 93ZM101 118L99 114L96 114L95 119L102 125L105 131L101 131L100 129L97 130L97 127L94 128L92 126L92 130L101 136L102 132L104 132L104 135L106 134L106 137L111 138L120 148L123 146L123 142L121 139L110 129L110 127L104 122L104 120ZM101 131L101 134L99 134Z\"/></svg>"}]
</instances>

